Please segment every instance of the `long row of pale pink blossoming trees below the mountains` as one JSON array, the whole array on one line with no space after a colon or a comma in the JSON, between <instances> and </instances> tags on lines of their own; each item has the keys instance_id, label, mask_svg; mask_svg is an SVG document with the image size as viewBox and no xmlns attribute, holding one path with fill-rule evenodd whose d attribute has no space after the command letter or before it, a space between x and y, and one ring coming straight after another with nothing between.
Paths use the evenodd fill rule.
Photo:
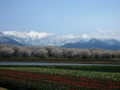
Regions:
<instances>
[{"instance_id":1,"label":"long row of pale pink blossoming trees below the mountains","mask_svg":"<svg viewBox=\"0 0 120 90\"><path fill-rule=\"evenodd\" d=\"M120 58L120 50L104 50L98 48L78 49L54 46L36 47L36 46L18 46L10 44L0 44L0 56Z\"/></svg>"}]
</instances>

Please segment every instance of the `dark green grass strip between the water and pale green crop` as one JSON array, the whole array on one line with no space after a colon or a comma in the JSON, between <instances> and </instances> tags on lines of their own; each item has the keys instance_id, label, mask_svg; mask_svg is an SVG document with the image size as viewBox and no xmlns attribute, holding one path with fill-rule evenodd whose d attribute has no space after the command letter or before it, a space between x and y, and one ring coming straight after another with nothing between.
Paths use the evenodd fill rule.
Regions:
<instances>
[{"instance_id":1,"label":"dark green grass strip between the water and pale green crop","mask_svg":"<svg viewBox=\"0 0 120 90\"><path fill-rule=\"evenodd\" d=\"M26 67L26 65L0 65L0 67ZM51 69L70 69L70 70L85 70L96 72L119 72L120 66L67 66L67 65L27 65L33 68L51 68Z\"/></svg>"}]
</instances>

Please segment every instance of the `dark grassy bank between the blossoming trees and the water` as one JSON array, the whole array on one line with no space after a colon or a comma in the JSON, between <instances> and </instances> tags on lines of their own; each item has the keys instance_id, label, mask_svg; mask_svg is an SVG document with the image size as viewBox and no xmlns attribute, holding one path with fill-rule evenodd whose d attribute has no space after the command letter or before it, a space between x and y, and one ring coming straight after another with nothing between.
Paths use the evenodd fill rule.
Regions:
<instances>
[{"instance_id":1,"label":"dark grassy bank between the blossoming trees and the water","mask_svg":"<svg viewBox=\"0 0 120 90\"><path fill-rule=\"evenodd\" d=\"M0 62L120 64L120 58L65 58L65 57L0 57Z\"/></svg>"}]
</instances>

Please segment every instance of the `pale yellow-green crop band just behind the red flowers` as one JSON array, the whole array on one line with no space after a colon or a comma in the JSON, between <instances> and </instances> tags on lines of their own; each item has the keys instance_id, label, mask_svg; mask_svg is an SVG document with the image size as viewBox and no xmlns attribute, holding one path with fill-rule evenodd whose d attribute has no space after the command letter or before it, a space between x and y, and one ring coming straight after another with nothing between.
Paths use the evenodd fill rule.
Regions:
<instances>
[{"instance_id":1,"label":"pale yellow-green crop band just behind the red flowers","mask_svg":"<svg viewBox=\"0 0 120 90\"><path fill-rule=\"evenodd\" d=\"M49 74L70 75L77 77L99 78L109 80L120 80L120 72L103 72L103 71L85 71L85 70L70 70L70 69L53 69L53 68L39 68L39 67L0 67L0 69L30 71Z\"/></svg>"}]
</instances>

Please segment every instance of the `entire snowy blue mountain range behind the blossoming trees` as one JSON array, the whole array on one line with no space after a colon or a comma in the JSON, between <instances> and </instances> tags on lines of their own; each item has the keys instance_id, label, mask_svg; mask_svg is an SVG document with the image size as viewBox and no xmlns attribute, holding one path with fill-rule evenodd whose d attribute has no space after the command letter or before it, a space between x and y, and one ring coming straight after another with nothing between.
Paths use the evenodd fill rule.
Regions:
<instances>
[{"instance_id":1,"label":"entire snowy blue mountain range behind the blossoming trees","mask_svg":"<svg viewBox=\"0 0 120 90\"><path fill-rule=\"evenodd\" d=\"M11 43L27 46L61 46L66 48L101 48L120 49L120 41L116 39L83 38L80 35L54 35L35 31L3 31L0 33L0 43Z\"/></svg>"}]
</instances>

